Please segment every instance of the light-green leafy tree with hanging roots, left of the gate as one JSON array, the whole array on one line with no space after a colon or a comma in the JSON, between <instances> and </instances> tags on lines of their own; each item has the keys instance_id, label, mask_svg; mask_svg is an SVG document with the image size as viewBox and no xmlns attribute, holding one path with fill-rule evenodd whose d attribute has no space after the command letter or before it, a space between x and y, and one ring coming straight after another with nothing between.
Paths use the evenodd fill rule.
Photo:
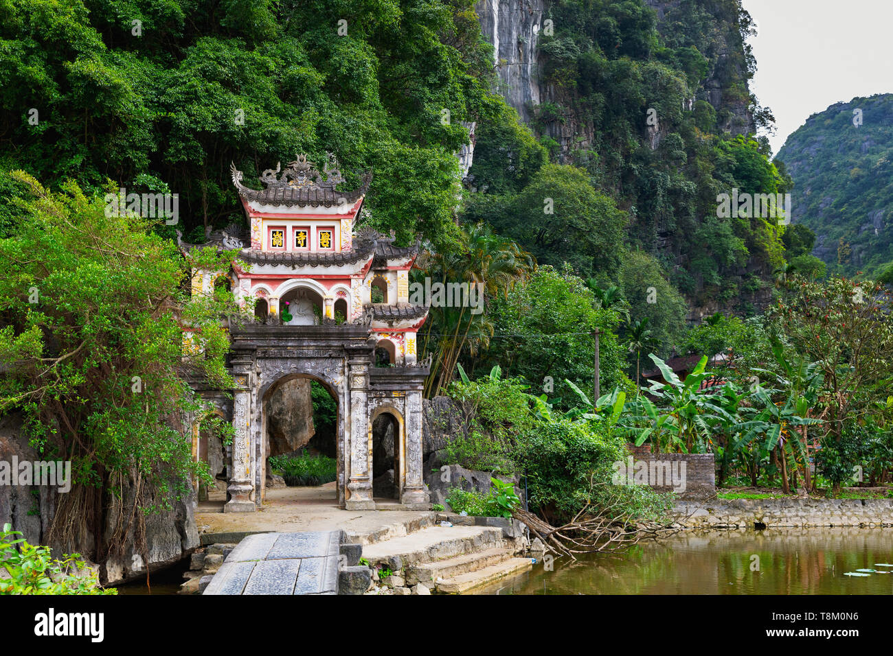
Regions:
<instances>
[{"instance_id":1,"label":"light-green leafy tree with hanging roots, left of the gate","mask_svg":"<svg viewBox=\"0 0 893 656\"><path fill-rule=\"evenodd\" d=\"M0 412L20 411L38 453L71 461L74 486L60 497L50 536L74 544L73 527L105 526L94 488L134 476L144 492L158 491L137 500L152 511L188 494L190 476L210 482L185 421L201 419L204 405L181 375L191 369L231 386L220 317L237 322L240 311L223 289L190 297L188 266L152 220L106 216L102 200L73 182L54 193L21 171L13 179L23 188L10 237L0 240ZM232 255L194 257L229 265ZM201 335L201 355L183 357L187 327ZM205 426L224 439L232 430L211 418Z\"/></svg>"}]
</instances>

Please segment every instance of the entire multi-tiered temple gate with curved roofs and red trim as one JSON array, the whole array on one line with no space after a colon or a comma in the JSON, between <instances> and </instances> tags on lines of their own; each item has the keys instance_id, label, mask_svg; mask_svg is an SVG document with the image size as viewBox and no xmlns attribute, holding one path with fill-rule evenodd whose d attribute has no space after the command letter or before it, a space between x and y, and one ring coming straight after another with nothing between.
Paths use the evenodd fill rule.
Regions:
<instances>
[{"instance_id":1,"label":"entire multi-tiered temple gate with curved roofs and red trim","mask_svg":"<svg viewBox=\"0 0 893 656\"><path fill-rule=\"evenodd\" d=\"M429 373L417 361L416 333L426 307L409 303L408 275L418 245L401 248L371 231L354 233L369 185L339 192L338 170L298 157L280 178L265 170L265 189L242 185L232 168L251 226L251 244L233 266L237 300L257 299L255 323L231 328L230 372L236 381L231 404L219 390L196 390L231 412L230 500L224 511L255 511L263 501L267 440L263 400L289 378L313 378L338 400L338 504L347 510L375 508L372 498L371 425L382 412L399 418L394 484L409 508L427 508L421 472L421 390ZM233 248L226 232L211 243ZM203 245L206 246L207 244ZM188 252L193 245L182 244ZM193 294L207 294L219 272L195 270ZM385 303L372 289L387 290ZM376 298L380 300L380 296ZM263 303L261 303L263 302ZM337 311L337 312L336 312ZM387 342L388 366L376 367L376 345ZM189 348L199 347L188 340Z\"/></svg>"}]
</instances>

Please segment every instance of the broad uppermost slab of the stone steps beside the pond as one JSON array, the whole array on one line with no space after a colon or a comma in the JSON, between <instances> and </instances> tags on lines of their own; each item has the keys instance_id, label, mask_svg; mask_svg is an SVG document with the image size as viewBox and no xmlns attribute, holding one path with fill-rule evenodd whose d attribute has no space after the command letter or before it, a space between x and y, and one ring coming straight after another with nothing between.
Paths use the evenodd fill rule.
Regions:
<instances>
[{"instance_id":1,"label":"broad uppermost slab of the stone steps beside the pond","mask_svg":"<svg viewBox=\"0 0 893 656\"><path fill-rule=\"evenodd\" d=\"M435 526L422 528L407 536L366 544L363 546L363 558L372 566L381 564L397 570L503 546L505 541L501 528Z\"/></svg>"}]
</instances>

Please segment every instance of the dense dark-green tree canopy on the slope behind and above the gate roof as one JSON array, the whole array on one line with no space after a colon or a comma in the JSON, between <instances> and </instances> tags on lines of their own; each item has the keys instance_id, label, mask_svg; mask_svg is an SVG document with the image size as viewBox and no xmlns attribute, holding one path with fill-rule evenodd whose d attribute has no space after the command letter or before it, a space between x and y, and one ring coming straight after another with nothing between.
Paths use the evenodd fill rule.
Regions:
<instances>
[{"instance_id":1,"label":"dense dark-green tree canopy on the slope behind and above the gate roof","mask_svg":"<svg viewBox=\"0 0 893 656\"><path fill-rule=\"evenodd\" d=\"M5 0L0 39L4 170L166 185L187 233L241 220L230 162L251 184L330 152L349 184L373 172L380 227L447 247L463 121L519 130L471 0Z\"/></svg>"}]
</instances>

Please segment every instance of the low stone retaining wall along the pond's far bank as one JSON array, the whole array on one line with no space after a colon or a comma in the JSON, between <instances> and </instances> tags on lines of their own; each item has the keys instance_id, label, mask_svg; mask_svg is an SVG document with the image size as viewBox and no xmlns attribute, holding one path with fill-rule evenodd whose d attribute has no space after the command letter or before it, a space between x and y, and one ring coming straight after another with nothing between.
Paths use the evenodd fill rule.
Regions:
<instances>
[{"instance_id":1,"label":"low stone retaining wall along the pond's far bank","mask_svg":"<svg viewBox=\"0 0 893 656\"><path fill-rule=\"evenodd\" d=\"M893 499L714 499L673 509L688 528L893 527Z\"/></svg>"}]
</instances>

